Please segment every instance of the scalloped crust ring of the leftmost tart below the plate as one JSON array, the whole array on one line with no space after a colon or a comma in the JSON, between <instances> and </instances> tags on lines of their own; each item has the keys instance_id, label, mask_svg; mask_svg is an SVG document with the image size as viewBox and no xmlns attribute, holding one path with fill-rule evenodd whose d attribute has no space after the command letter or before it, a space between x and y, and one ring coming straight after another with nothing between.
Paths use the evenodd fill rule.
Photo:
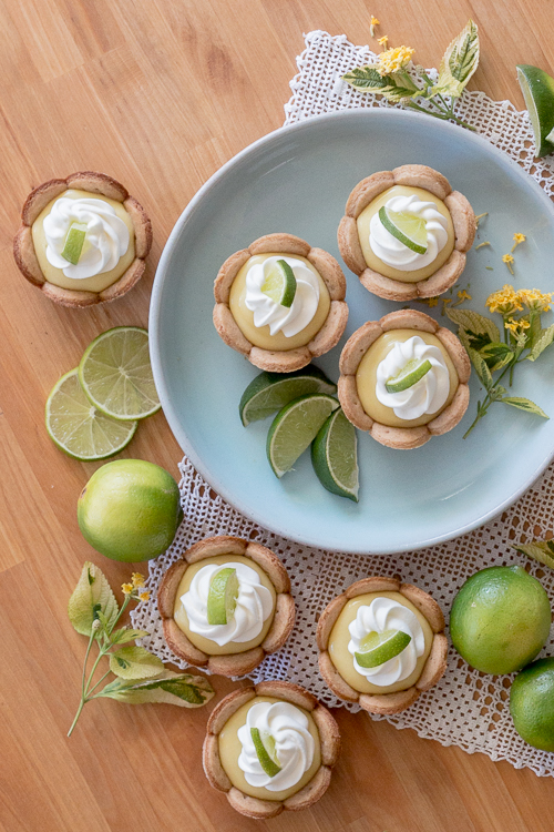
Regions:
<instances>
[{"instance_id":1,"label":"scalloped crust ring of the leftmost tart below the plate","mask_svg":"<svg viewBox=\"0 0 554 832\"><path fill-rule=\"evenodd\" d=\"M250 558L261 567L276 591L274 619L266 637L260 645L244 652L223 656L205 653L193 645L173 617L178 585L187 567L216 555L240 555ZM295 600L290 595L290 579L279 558L261 544L228 535L198 540L167 569L157 591L157 608L162 617L165 641L175 656L188 664L204 668L217 676L229 677L246 676L257 668L266 656L280 650L293 631L296 616Z\"/></svg>"}]
</instances>

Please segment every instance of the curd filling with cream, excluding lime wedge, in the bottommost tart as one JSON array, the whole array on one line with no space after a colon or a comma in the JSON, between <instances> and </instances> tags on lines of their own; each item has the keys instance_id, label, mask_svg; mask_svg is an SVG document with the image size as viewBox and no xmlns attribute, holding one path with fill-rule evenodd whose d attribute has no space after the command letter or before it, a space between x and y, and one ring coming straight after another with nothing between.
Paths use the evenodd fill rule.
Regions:
<instances>
[{"instance_id":1,"label":"curd filling with cream, excluding lime wedge, in the bottommost tart","mask_svg":"<svg viewBox=\"0 0 554 832\"><path fill-rule=\"evenodd\" d=\"M258 708L260 704L263 709ZM275 709L269 711L268 706ZM248 730L252 727L261 729L266 740L270 734L275 742L274 754L281 772L271 778L273 783L254 757ZM223 769L233 785L260 800L290 798L309 783L321 765L319 731L311 714L275 697L255 697L242 706L223 727L218 744Z\"/></svg>"}]
</instances>

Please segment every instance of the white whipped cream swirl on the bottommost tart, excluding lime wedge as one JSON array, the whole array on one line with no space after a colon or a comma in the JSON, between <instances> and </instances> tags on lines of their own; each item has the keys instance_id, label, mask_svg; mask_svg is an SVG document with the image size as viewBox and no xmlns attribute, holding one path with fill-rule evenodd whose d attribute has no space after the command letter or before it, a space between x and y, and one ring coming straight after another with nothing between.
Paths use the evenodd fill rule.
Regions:
<instances>
[{"instance_id":1,"label":"white whipped cream swirl on the bottommost tart, excluding lime wedge","mask_svg":"<svg viewBox=\"0 0 554 832\"><path fill-rule=\"evenodd\" d=\"M238 768L250 785L278 792L296 785L314 762L315 742L308 730L308 718L290 702L257 702L248 710L246 724L238 729L243 750ZM258 760L252 728L257 728L264 744L268 737L275 741L275 757L280 771L266 774Z\"/></svg>"}]
</instances>

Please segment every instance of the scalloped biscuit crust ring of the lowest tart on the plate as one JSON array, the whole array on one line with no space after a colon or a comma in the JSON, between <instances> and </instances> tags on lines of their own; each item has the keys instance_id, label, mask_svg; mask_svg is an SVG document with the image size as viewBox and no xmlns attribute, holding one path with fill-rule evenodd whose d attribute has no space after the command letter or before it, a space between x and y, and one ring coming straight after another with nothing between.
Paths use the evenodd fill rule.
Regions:
<instances>
[{"instance_id":1,"label":"scalloped biscuit crust ring of the lowest tart on the plate","mask_svg":"<svg viewBox=\"0 0 554 832\"><path fill-rule=\"evenodd\" d=\"M441 342L454 365L458 374L458 389L452 402L427 425L420 427L389 427L375 422L363 409L358 395L356 373L361 359L371 344L390 329L418 329L434 335ZM410 450L424 445L432 436L440 436L462 419L470 403L468 382L471 375L471 363L456 336L437 323L430 315L416 310L390 312L379 321L368 321L356 329L342 347L339 361L340 378L338 397L345 416L360 430L365 430L381 445L398 450Z\"/></svg>"}]
</instances>

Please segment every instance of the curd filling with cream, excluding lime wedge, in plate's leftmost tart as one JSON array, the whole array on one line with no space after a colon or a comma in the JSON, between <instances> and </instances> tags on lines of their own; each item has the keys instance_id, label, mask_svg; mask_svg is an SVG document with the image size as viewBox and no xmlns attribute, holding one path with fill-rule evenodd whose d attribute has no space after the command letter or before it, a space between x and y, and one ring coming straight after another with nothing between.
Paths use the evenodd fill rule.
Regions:
<instances>
[{"instance_id":1,"label":"curd filling with cream, excluding lime wedge, in plate's leftmost tart","mask_svg":"<svg viewBox=\"0 0 554 832\"><path fill-rule=\"evenodd\" d=\"M267 270L284 260L296 277L290 307L261 292ZM230 287L229 307L243 335L261 349L306 346L325 324L330 308L327 286L311 263L299 255L267 253L249 257Z\"/></svg>"}]
</instances>

